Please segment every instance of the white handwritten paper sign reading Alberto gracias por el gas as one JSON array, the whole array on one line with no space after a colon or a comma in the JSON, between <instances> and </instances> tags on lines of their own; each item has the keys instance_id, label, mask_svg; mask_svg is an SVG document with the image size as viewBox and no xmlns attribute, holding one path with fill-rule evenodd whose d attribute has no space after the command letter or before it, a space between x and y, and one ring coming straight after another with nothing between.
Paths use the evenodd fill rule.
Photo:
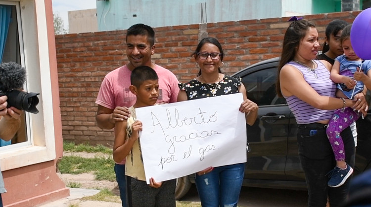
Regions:
<instances>
[{"instance_id":1,"label":"white handwritten paper sign reading Alberto gracias por el gas","mask_svg":"<svg viewBox=\"0 0 371 207\"><path fill-rule=\"evenodd\" d=\"M147 183L246 162L241 93L136 108Z\"/></svg>"}]
</instances>

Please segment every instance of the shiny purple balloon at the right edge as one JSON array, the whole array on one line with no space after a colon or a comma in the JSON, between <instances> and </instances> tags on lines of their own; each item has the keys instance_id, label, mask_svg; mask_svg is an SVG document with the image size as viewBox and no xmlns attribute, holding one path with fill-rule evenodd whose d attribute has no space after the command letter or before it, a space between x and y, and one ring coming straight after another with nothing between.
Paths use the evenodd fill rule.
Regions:
<instances>
[{"instance_id":1,"label":"shiny purple balloon at the right edge","mask_svg":"<svg viewBox=\"0 0 371 207\"><path fill-rule=\"evenodd\" d=\"M354 19L350 30L354 52L363 60L371 60L371 8L363 10Z\"/></svg>"}]
</instances>

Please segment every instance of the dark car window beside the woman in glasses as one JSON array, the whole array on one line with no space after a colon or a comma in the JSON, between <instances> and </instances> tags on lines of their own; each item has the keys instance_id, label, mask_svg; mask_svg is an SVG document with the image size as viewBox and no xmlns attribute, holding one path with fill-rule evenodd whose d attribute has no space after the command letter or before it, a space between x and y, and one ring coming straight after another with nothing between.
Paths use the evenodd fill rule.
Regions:
<instances>
[{"instance_id":1,"label":"dark car window beside the woman in glasses","mask_svg":"<svg viewBox=\"0 0 371 207\"><path fill-rule=\"evenodd\" d=\"M241 78L246 87L247 98L259 106L286 104L284 98L277 96L277 68L258 70Z\"/></svg>"}]
</instances>

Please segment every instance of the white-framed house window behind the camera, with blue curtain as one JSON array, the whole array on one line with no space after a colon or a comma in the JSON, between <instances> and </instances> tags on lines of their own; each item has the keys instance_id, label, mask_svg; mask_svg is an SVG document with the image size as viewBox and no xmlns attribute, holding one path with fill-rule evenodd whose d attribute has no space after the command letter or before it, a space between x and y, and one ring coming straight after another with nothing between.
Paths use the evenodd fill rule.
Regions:
<instances>
[{"instance_id":1,"label":"white-framed house window behind the camera, with blue curtain","mask_svg":"<svg viewBox=\"0 0 371 207\"><path fill-rule=\"evenodd\" d=\"M53 101L58 100L52 99L49 54L54 55L55 48L51 46L49 52L53 41L48 38L45 2L0 0L0 6L10 8L2 62L24 67L27 71L24 91L40 93L37 105L40 112L24 112L23 125L11 144L0 147L1 170L6 171L55 159ZM51 13L48 15L52 18Z\"/></svg>"}]
</instances>

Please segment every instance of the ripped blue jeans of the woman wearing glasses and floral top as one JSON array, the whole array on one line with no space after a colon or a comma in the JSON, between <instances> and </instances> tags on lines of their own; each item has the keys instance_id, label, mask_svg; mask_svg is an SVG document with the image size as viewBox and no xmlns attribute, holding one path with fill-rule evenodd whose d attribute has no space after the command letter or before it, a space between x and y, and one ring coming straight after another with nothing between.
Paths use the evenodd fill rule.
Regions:
<instances>
[{"instance_id":1,"label":"ripped blue jeans of the woman wearing glasses and floral top","mask_svg":"<svg viewBox=\"0 0 371 207\"><path fill-rule=\"evenodd\" d=\"M236 207L241 191L245 163L214 168L198 175L195 183L203 207Z\"/></svg>"}]
</instances>

